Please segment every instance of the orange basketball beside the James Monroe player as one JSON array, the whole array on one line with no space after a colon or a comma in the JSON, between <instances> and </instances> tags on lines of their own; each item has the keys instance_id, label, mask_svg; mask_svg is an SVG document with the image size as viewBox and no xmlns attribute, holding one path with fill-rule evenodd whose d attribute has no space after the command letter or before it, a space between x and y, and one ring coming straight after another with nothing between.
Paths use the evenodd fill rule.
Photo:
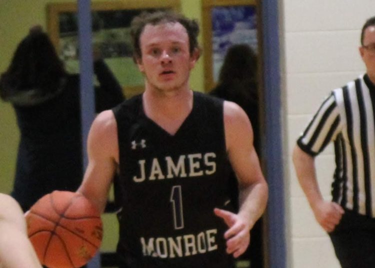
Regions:
<instances>
[{"instance_id":1,"label":"orange basketball beside the James Monroe player","mask_svg":"<svg viewBox=\"0 0 375 268\"><path fill-rule=\"evenodd\" d=\"M50 268L80 267L100 246L100 213L80 193L48 193L31 206L25 218L39 261Z\"/></svg>"}]
</instances>

